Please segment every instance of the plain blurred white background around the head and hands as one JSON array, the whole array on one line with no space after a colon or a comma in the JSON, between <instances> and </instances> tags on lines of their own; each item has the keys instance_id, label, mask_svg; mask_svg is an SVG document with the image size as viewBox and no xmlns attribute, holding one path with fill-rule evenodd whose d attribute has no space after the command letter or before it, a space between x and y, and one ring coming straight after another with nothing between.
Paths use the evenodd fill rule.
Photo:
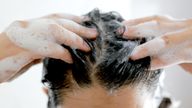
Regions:
<instances>
[{"instance_id":1,"label":"plain blurred white background around the head and hands","mask_svg":"<svg viewBox=\"0 0 192 108\"><path fill-rule=\"evenodd\" d=\"M192 18L191 0L0 0L0 32L15 20L51 13L82 15L94 8L117 11L125 19L149 15ZM33 66L11 83L0 85L0 108L46 108L42 92L42 65ZM179 66L165 69L165 89L181 101L180 108L192 108L192 75Z\"/></svg>"}]
</instances>

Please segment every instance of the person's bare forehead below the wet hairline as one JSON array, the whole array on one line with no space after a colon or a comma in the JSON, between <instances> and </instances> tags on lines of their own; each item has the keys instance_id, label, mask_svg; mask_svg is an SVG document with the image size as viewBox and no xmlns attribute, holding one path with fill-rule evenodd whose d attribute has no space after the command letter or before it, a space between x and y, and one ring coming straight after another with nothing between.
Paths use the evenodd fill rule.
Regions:
<instances>
[{"instance_id":1,"label":"person's bare forehead below the wet hairline","mask_svg":"<svg viewBox=\"0 0 192 108\"><path fill-rule=\"evenodd\" d=\"M143 94L131 87L109 92L101 86L93 86L67 93L64 97L64 107L59 108L145 108L144 103L150 100L146 92Z\"/></svg>"}]
</instances>

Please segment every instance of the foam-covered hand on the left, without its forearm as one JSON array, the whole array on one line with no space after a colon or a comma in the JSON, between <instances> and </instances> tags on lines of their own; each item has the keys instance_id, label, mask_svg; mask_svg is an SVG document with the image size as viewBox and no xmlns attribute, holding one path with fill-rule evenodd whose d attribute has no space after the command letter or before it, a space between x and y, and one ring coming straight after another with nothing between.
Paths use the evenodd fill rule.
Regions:
<instances>
[{"instance_id":1,"label":"foam-covered hand on the left, without its forearm","mask_svg":"<svg viewBox=\"0 0 192 108\"><path fill-rule=\"evenodd\" d=\"M95 38L96 30L83 27L86 18L69 14L54 14L29 21L15 21L4 34L31 56L52 57L71 63L69 52L61 46L89 51L84 38Z\"/></svg>"}]
</instances>

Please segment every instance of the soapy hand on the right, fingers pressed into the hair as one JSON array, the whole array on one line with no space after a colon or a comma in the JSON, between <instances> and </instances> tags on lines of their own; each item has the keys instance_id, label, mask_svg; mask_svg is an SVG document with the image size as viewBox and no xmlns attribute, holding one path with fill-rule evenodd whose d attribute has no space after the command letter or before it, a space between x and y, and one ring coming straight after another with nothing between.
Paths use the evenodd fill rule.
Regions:
<instances>
[{"instance_id":1,"label":"soapy hand on the right, fingers pressed into the hair","mask_svg":"<svg viewBox=\"0 0 192 108\"><path fill-rule=\"evenodd\" d=\"M154 38L134 49L133 60L151 56L152 70L192 63L192 20L152 16L123 23L127 28L124 38Z\"/></svg>"}]
</instances>

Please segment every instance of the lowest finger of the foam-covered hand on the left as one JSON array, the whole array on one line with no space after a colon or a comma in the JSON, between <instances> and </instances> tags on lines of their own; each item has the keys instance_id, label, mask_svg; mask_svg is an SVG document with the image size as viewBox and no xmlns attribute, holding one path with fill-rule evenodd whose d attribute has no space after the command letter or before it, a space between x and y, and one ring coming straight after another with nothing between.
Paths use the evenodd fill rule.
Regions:
<instances>
[{"instance_id":1,"label":"lowest finger of the foam-covered hand on the left","mask_svg":"<svg viewBox=\"0 0 192 108\"><path fill-rule=\"evenodd\" d=\"M67 63L73 62L69 51L56 43L44 42L42 46L37 49L37 52L41 54L43 57L61 59Z\"/></svg>"}]
</instances>

